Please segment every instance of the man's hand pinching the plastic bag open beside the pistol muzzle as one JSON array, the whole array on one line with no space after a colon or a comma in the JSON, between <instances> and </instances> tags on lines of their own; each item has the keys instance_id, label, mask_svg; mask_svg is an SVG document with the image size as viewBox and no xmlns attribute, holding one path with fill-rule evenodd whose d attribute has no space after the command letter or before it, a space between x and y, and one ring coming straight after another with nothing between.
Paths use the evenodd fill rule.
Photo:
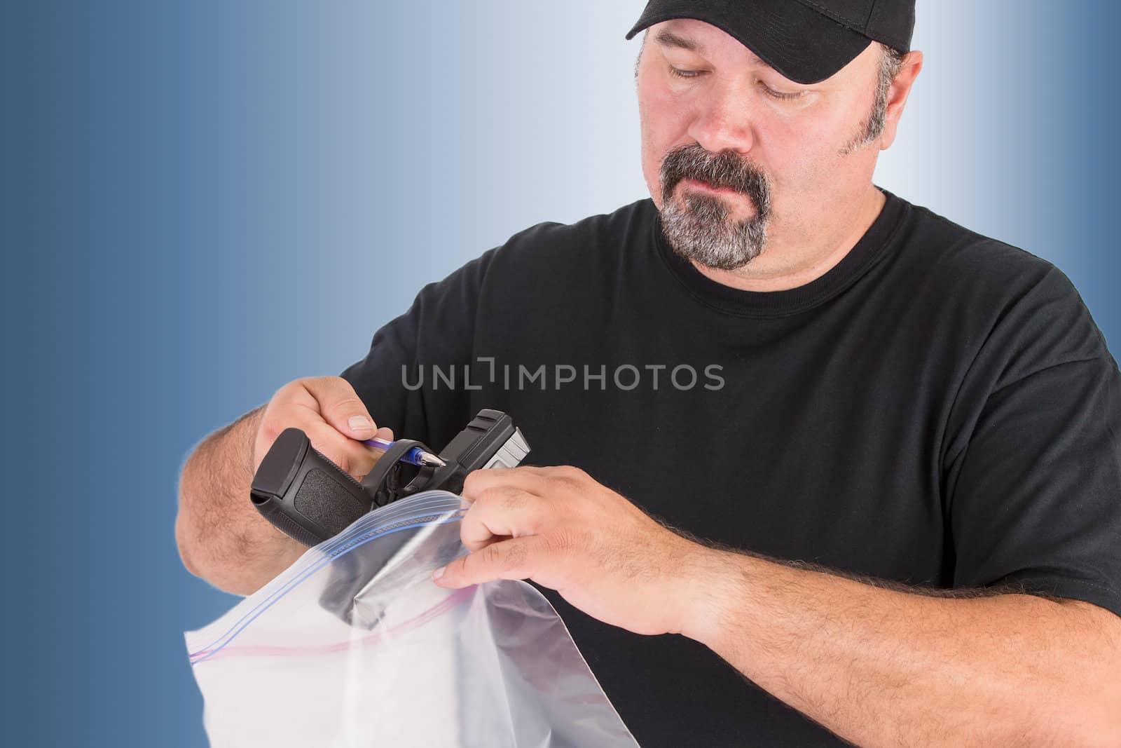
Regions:
<instances>
[{"instance_id":1,"label":"man's hand pinching the plastic bag open beside the pistol muzzle","mask_svg":"<svg viewBox=\"0 0 1121 748\"><path fill-rule=\"evenodd\" d=\"M577 468L476 470L460 536L471 551L437 570L445 588L529 579L593 618L677 634L695 609L707 548L659 525Z\"/></svg>"}]
</instances>

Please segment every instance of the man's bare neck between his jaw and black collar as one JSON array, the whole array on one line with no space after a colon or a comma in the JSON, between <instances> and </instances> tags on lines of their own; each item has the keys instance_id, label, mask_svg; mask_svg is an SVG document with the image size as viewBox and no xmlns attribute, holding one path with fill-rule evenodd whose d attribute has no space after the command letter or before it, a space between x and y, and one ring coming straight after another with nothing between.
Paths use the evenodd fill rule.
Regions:
<instances>
[{"instance_id":1,"label":"man's bare neck between his jaw and black collar","mask_svg":"<svg viewBox=\"0 0 1121 748\"><path fill-rule=\"evenodd\" d=\"M707 278L740 290L787 290L805 286L844 259L876 222L886 202L884 194L874 185L869 185L868 193L851 213L853 220L824 240L822 247L803 246L784 250L768 246L759 257L735 270L717 270L697 262L693 266Z\"/></svg>"}]
</instances>

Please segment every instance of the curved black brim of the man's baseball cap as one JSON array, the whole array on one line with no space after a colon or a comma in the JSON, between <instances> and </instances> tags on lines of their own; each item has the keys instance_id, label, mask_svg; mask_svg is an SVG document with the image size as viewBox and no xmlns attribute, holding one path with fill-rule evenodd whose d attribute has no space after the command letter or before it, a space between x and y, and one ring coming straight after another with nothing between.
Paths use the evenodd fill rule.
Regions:
<instances>
[{"instance_id":1,"label":"curved black brim of the man's baseball cap","mask_svg":"<svg viewBox=\"0 0 1121 748\"><path fill-rule=\"evenodd\" d=\"M804 84L831 77L872 43L863 34L794 0L728 3L656 0L647 3L627 38L675 18L692 18L715 26L759 55L779 74Z\"/></svg>"}]
</instances>

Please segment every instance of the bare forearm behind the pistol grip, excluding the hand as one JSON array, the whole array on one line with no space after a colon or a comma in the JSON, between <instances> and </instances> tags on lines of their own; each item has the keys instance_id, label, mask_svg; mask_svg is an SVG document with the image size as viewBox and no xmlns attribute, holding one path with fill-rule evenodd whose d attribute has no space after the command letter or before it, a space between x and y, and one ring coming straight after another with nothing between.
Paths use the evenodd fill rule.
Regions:
<instances>
[{"instance_id":1,"label":"bare forearm behind the pistol grip, excluding the hand","mask_svg":"<svg viewBox=\"0 0 1121 748\"><path fill-rule=\"evenodd\" d=\"M263 407L214 432L179 481L175 536L187 570L237 594L260 589L306 548L277 530L249 500L253 438Z\"/></svg>"}]
</instances>

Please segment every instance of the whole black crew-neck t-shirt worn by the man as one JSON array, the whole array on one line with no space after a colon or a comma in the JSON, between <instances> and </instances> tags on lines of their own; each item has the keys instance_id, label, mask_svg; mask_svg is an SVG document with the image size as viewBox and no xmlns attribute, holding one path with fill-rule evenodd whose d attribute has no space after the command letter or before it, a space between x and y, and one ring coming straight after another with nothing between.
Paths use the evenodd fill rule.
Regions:
<instances>
[{"instance_id":1,"label":"whole black crew-neck t-shirt worn by the man","mask_svg":"<svg viewBox=\"0 0 1121 748\"><path fill-rule=\"evenodd\" d=\"M841 262L771 293L674 255L650 200L543 223L425 287L343 377L436 449L504 410L527 463L583 468L702 538L1121 615L1101 332L1047 261L887 196ZM704 646L548 597L640 745L839 745Z\"/></svg>"}]
</instances>

